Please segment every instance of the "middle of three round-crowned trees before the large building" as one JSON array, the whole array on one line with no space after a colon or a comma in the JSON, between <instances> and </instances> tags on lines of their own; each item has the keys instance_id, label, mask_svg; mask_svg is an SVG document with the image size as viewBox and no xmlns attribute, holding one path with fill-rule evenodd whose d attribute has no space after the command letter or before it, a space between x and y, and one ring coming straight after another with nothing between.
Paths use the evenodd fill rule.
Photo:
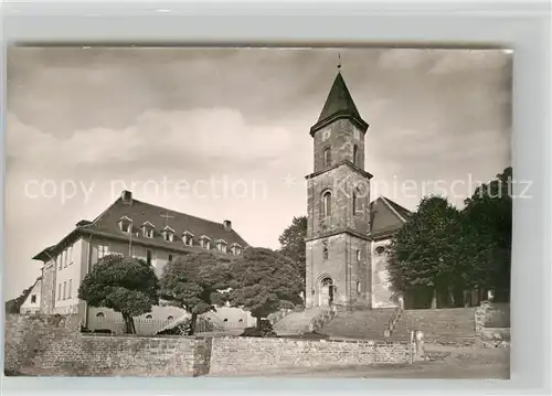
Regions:
<instances>
[{"instance_id":1,"label":"middle of three round-crowned trees before the large building","mask_svg":"<svg viewBox=\"0 0 552 396\"><path fill-rule=\"evenodd\" d=\"M191 313L189 335L195 332L198 315L216 311L215 306L224 301L219 290L227 288L230 263L226 257L202 251L177 257L164 267L161 296Z\"/></svg>"}]
</instances>

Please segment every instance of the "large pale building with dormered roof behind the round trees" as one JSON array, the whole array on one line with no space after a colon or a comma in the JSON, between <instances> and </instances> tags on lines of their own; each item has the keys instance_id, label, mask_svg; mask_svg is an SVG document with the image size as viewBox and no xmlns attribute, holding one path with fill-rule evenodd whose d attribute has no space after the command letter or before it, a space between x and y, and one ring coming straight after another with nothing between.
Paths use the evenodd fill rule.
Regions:
<instances>
[{"instance_id":1,"label":"large pale building with dormered roof behind the round trees","mask_svg":"<svg viewBox=\"0 0 552 396\"><path fill-rule=\"evenodd\" d=\"M94 221L78 222L64 238L33 257L44 263L41 296L38 298L40 311L75 313L88 329L117 331L121 327L119 313L87 307L77 297L82 280L102 257L108 254L138 257L153 266L160 276L167 263L178 255L205 250L217 255L241 255L246 246L227 220L217 223L174 212L137 201L131 192L123 191L120 197ZM180 308L161 304L138 318L138 322L146 325L149 321L153 331L162 322L184 314ZM251 323L251 317L236 310L221 321L240 321L245 327Z\"/></svg>"}]
</instances>

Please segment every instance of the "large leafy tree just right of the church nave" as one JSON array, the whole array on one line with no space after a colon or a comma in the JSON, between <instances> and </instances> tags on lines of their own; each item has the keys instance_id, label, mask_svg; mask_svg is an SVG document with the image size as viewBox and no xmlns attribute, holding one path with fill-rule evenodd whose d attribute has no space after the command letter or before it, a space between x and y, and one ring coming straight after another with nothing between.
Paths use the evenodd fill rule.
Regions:
<instances>
[{"instance_id":1,"label":"large leafy tree just right of the church nave","mask_svg":"<svg viewBox=\"0 0 552 396\"><path fill-rule=\"evenodd\" d=\"M448 296L461 277L457 244L461 239L460 213L445 197L426 196L389 246L388 270L396 292L431 290Z\"/></svg>"}]
</instances>

